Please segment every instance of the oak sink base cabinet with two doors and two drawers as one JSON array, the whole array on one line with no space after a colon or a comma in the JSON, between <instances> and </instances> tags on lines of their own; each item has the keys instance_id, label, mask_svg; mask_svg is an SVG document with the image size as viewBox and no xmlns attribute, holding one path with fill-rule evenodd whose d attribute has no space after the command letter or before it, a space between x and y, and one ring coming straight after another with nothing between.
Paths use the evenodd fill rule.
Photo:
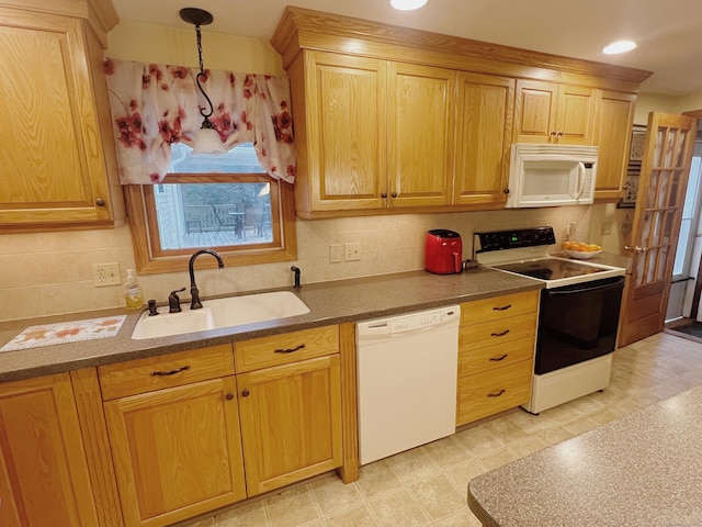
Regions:
<instances>
[{"instance_id":1,"label":"oak sink base cabinet with two doors and two drawers","mask_svg":"<svg viewBox=\"0 0 702 527\"><path fill-rule=\"evenodd\" d=\"M349 471L339 348L327 326L99 367L124 524Z\"/></svg>"}]
</instances>

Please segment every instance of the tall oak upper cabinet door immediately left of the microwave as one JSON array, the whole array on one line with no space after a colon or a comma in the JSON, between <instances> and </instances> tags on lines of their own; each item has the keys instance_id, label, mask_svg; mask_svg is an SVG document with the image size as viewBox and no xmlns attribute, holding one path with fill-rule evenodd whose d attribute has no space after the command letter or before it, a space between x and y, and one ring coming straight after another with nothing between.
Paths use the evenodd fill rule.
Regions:
<instances>
[{"instance_id":1,"label":"tall oak upper cabinet door immediately left of the microwave","mask_svg":"<svg viewBox=\"0 0 702 527\"><path fill-rule=\"evenodd\" d=\"M454 204L507 201L514 79L460 74Z\"/></svg>"}]
</instances>

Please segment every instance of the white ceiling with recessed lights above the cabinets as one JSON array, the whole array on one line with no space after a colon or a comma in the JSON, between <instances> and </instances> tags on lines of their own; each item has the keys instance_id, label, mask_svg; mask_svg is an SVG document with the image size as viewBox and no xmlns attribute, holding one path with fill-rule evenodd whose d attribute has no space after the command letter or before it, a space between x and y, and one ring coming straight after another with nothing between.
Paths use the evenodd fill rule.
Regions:
<instances>
[{"instance_id":1,"label":"white ceiling with recessed lights above the cabinets","mask_svg":"<svg viewBox=\"0 0 702 527\"><path fill-rule=\"evenodd\" d=\"M644 93L702 94L700 0L429 0L401 12L388 0L113 0L121 20L186 27L178 12L214 15L212 31L270 40L285 5L653 71ZM190 26L192 27L192 26ZM608 56L615 40L638 47Z\"/></svg>"}]
</instances>

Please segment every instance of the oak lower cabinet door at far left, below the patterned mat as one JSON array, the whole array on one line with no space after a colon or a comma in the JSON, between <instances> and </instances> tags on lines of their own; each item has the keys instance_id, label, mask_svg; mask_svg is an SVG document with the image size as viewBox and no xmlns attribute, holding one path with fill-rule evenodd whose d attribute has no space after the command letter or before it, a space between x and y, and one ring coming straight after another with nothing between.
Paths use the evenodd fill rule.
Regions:
<instances>
[{"instance_id":1,"label":"oak lower cabinet door at far left, below the patterned mat","mask_svg":"<svg viewBox=\"0 0 702 527\"><path fill-rule=\"evenodd\" d=\"M68 373L0 384L0 525L98 524Z\"/></svg>"}]
</instances>

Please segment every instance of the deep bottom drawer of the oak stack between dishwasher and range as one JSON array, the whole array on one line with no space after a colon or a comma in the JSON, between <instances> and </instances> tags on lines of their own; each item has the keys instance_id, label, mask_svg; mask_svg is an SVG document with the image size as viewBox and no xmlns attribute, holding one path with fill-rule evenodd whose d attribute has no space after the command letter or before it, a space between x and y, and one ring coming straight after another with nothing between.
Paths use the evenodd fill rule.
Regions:
<instances>
[{"instance_id":1,"label":"deep bottom drawer of the oak stack between dishwasher and range","mask_svg":"<svg viewBox=\"0 0 702 527\"><path fill-rule=\"evenodd\" d=\"M533 361L523 360L458 379L456 426L528 403L532 370Z\"/></svg>"}]
</instances>

